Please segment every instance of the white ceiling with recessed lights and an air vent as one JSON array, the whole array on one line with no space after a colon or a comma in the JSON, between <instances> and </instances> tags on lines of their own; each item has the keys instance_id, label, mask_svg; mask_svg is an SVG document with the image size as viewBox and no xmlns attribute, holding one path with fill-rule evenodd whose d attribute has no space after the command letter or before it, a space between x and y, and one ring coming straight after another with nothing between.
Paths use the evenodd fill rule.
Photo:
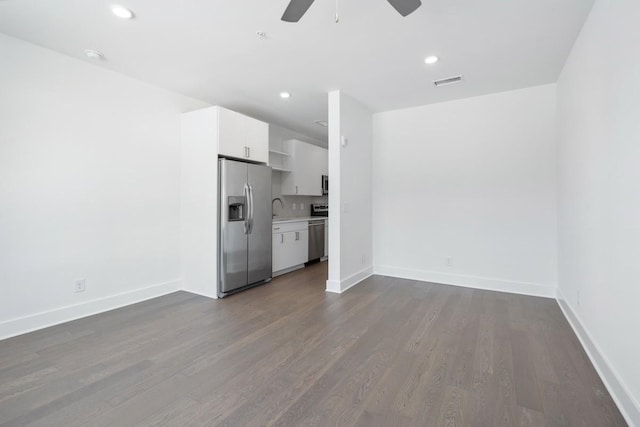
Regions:
<instances>
[{"instance_id":1,"label":"white ceiling with recessed lights and an air vent","mask_svg":"<svg viewBox=\"0 0 640 427\"><path fill-rule=\"evenodd\" d=\"M83 60L96 49L103 67L326 138L313 122L334 89L377 112L555 82L594 0L422 2L402 18L385 0L339 0L336 24L335 1L316 0L291 24L288 0L116 0L131 21L108 0L8 0L0 32Z\"/></svg>"}]
</instances>

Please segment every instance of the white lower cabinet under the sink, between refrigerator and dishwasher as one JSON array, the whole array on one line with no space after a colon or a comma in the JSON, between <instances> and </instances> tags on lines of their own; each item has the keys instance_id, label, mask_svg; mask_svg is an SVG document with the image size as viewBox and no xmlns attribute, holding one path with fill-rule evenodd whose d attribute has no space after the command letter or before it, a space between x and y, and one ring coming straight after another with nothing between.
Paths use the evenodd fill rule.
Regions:
<instances>
[{"instance_id":1,"label":"white lower cabinet under the sink, between refrigerator and dishwasher","mask_svg":"<svg viewBox=\"0 0 640 427\"><path fill-rule=\"evenodd\" d=\"M302 266L309 260L309 222L273 224L273 275Z\"/></svg>"}]
</instances>

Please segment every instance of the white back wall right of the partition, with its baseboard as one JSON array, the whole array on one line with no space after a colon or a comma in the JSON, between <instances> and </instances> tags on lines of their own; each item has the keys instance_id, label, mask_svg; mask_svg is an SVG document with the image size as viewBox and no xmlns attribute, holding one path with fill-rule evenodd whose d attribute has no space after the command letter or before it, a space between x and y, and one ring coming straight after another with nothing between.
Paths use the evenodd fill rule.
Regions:
<instances>
[{"instance_id":1,"label":"white back wall right of the partition, with its baseboard","mask_svg":"<svg viewBox=\"0 0 640 427\"><path fill-rule=\"evenodd\" d=\"M373 171L377 274L555 296L555 85L376 114Z\"/></svg>"}]
</instances>

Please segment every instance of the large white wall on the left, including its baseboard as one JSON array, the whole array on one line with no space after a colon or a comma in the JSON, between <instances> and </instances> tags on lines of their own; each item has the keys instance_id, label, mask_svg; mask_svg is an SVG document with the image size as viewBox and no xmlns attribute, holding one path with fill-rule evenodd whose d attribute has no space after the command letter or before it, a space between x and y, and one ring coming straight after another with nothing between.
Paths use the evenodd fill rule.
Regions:
<instances>
[{"instance_id":1,"label":"large white wall on the left, including its baseboard","mask_svg":"<svg viewBox=\"0 0 640 427\"><path fill-rule=\"evenodd\" d=\"M4 35L0 58L0 338L178 289L203 104Z\"/></svg>"}]
</instances>

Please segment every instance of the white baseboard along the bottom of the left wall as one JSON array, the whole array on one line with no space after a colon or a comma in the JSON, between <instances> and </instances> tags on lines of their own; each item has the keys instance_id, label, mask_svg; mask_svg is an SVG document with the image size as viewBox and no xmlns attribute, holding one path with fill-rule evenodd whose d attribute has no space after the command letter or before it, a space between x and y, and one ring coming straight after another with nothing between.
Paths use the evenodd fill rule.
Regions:
<instances>
[{"instance_id":1,"label":"white baseboard along the bottom of the left wall","mask_svg":"<svg viewBox=\"0 0 640 427\"><path fill-rule=\"evenodd\" d=\"M0 323L0 339L26 334L27 332L36 331L38 329L47 328L49 326L58 325L60 323L92 316L94 314L170 294L178 291L180 287L180 281L174 280L172 282L160 283L158 285L136 289L130 292L123 292L121 294L98 298L81 304L69 305L43 313L36 313L29 316L6 320Z\"/></svg>"}]
</instances>

